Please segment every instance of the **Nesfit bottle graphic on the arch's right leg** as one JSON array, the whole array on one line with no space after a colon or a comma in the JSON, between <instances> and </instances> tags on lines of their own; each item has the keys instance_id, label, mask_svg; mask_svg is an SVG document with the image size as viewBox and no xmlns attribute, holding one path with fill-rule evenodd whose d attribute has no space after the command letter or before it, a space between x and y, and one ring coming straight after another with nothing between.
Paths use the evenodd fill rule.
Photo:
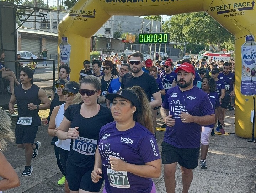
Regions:
<instances>
[{"instance_id":1,"label":"Nesfit bottle graphic on the arch's right leg","mask_svg":"<svg viewBox=\"0 0 256 193\"><path fill-rule=\"evenodd\" d=\"M247 35L245 40L241 47L241 93L248 96L256 94L256 43L252 35Z\"/></svg>"}]
</instances>

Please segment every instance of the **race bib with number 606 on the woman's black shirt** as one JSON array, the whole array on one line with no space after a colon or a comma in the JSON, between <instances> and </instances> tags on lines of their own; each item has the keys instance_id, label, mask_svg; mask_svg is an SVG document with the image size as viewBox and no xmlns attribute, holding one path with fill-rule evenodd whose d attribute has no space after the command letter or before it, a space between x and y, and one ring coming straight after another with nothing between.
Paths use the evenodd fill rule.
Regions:
<instances>
[{"instance_id":1,"label":"race bib with number 606 on the woman's black shirt","mask_svg":"<svg viewBox=\"0 0 256 193\"><path fill-rule=\"evenodd\" d=\"M73 139L73 147L74 151L84 155L94 155L96 150L97 140L87 139L84 137L77 137Z\"/></svg>"}]
</instances>

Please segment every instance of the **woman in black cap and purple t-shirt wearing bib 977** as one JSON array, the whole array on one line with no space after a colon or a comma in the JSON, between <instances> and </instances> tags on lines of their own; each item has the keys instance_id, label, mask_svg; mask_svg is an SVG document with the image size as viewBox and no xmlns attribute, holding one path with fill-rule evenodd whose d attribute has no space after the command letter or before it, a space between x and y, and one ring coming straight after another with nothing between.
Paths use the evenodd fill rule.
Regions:
<instances>
[{"instance_id":1,"label":"woman in black cap and purple t-shirt wearing bib 977","mask_svg":"<svg viewBox=\"0 0 256 193\"><path fill-rule=\"evenodd\" d=\"M100 130L92 181L97 184L103 173L103 193L155 193L151 178L160 176L161 159L144 90L134 86L106 98L115 121Z\"/></svg>"}]
</instances>

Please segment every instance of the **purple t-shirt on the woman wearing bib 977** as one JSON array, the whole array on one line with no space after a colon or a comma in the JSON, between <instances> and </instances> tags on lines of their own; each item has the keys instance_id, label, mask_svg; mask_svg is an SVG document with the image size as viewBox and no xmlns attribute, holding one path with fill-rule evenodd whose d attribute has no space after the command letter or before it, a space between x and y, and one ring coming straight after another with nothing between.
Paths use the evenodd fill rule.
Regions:
<instances>
[{"instance_id":1,"label":"purple t-shirt on the woman wearing bib 977","mask_svg":"<svg viewBox=\"0 0 256 193\"><path fill-rule=\"evenodd\" d=\"M107 192L151 192L151 178L140 177L126 171L116 172L111 170L109 164L110 156L136 165L145 165L160 159L155 136L148 129L136 122L133 128L118 131L115 121L108 123L100 130L98 148Z\"/></svg>"}]
</instances>

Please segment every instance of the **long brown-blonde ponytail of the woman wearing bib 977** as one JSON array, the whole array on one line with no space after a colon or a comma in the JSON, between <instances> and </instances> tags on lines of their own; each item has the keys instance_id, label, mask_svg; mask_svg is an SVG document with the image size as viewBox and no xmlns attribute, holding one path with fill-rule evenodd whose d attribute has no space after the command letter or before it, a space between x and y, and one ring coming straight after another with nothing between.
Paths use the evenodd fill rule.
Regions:
<instances>
[{"instance_id":1,"label":"long brown-blonde ponytail of the woman wearing bib 977","mask_svg":"<svg viewBox=\"0 0 256 193\"><path fill-rule=\"evenodd\" d=\"M140 101L140 107L136 108L133 116L134 121L137 121L138 123L146 127L151 133L154 133L152 119L153 115L144 90L140 86L133 86L130 89L132 89L138 95L137 99Z\"/></svg>"}]
</instances>

